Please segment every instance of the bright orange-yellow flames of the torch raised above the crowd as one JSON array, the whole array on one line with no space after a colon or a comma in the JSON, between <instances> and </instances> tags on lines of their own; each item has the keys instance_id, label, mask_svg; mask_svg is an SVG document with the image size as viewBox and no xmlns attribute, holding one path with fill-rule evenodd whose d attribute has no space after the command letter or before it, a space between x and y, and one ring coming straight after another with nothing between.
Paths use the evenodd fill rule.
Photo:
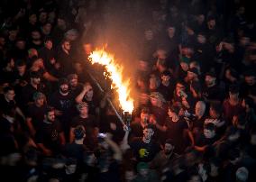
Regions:
<instances>
[{"instance_id":1,"label":"bright orange-yellow flames of the torch raised above the crowd","mask_svg":"<svg viewBox=\"0 0 256 182\"><path fill-rule=\"evenodd\" d=\"M114 62L114 56L105 52L105 50L95 50L89 56L92 64L98 63L105 66L108 72L107 77L112 80L112 88L118 93L118 100L123 109L123 112L133 112L133 99L129 96L130 86L129 80L123 81L123 67Z\"/></svg>"}]
</instances>

